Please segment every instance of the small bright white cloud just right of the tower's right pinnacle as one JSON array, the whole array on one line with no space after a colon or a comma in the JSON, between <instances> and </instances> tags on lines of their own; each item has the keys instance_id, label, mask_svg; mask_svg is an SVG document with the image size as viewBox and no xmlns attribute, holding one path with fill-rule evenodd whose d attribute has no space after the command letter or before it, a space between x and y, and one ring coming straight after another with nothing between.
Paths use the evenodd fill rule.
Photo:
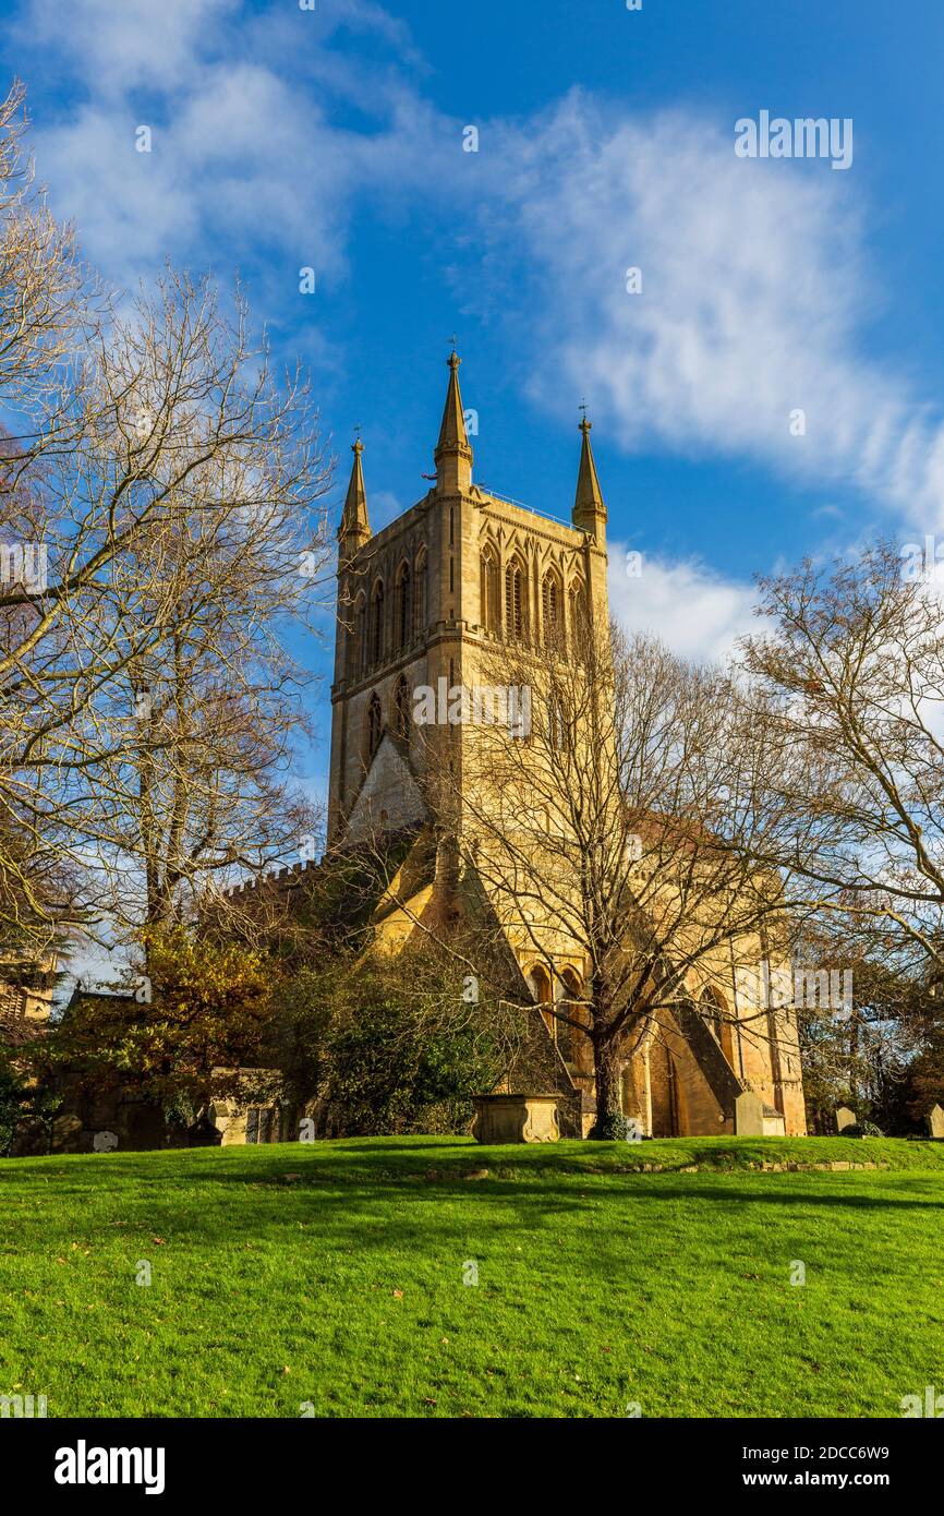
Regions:
<instances>
[{"instance_id":1,"label":"small bright white cloud just right of the tower's right pinnacle","mask_svg":"<svg viewBox=\"0 0 944 1516\"><path fill-rule=\"evenodd\" d=\"M623 543L609 544L609 606L633 632L650 632L683 658L724 661L738 637L758 631L756 590L723 579L688 559L644 556L642 572L626 572Z\"/></svg>"}]
</instances>

